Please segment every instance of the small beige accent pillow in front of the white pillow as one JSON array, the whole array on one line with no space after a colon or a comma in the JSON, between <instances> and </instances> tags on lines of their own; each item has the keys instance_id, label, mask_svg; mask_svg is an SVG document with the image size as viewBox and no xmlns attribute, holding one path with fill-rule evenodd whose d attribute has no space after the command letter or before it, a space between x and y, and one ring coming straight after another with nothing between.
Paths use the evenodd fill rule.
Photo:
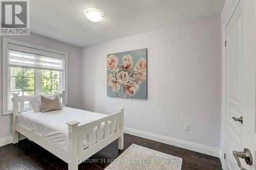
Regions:
<instances>
[{"instance_id":1,"label":"small beige accent pillow in front of the white pillow","mask_svg":"<svg viewBox=\"0 0 256 170\"><path fill-rule=\"evenodd\" d=\"M41 103L42 113L62 109L59 104L59 99L57 95L55 95L52 99L46 98L45 96L41 95Z\"/></svg>"}]
</instances>

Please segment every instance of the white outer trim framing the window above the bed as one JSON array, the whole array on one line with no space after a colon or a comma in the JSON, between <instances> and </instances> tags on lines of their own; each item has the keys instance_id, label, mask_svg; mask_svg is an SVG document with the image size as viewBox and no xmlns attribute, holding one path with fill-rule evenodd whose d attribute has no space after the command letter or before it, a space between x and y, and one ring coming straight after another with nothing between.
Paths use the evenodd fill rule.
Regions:
<instances>
[{"instance_id":1,"label":"white outer trim framing the window above the bed","mask_svg":"<svg viewBox=\"0 0 256 170\"><path fill-rule=\"evenodd\" d=\"M2 51L2 56L3 56L3 69L2 69L2 75L3 75L3 82L2 82L2 95L3 95L3 115L7 115L7 114L12 114L12 111L8 110L8 93L9 93L9 87L10 87L10 77L9 77L9 49L8 49L8 43L11 44L16 44L16 45L20 45L20 46L24 46L24 47L29 47L32 48L31 50L41 50L44 51L45 53L50 52L50 53L56 53L56 54L60 54L63 56L63 62L65 65L65 69L64 71L62 71L62 90L66 91L66 103L65 105L68 104L68 53L66 52L62 52L62 51L58 51L58 50L54 50L52 48L48 48L48 47L44 47L44 46L40 46L40 45L35 45L35 44L30 44L27 42L22 42L22 41L17 41L17 40L13 40L13 39L9 39L9 38L5 38L3 37L2 40L2 46L3 46L3 51ZM35 78L36 79L36 78ZM35 85L36 86L36 85ZM40 94L36 94L36 95L40 95Z\"/></svg>"}]
</instances>

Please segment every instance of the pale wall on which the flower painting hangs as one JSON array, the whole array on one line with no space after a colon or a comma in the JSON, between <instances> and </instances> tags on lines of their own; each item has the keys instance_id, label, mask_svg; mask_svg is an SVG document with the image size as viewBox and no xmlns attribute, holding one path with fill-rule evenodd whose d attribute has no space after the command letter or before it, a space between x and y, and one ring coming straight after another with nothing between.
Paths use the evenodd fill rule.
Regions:
<instances>
[{"instance_id":1,"label":"pale wall on which the flower painting hangs","mask_svg":"<svg viewBox=\"0 0 256 170\"><path fill-rule=\"evenodd\" d=\"M220 148L220 24L214 17L84 47L82 108L125 107L125 127ZM106 96L106 55L140 48L148 49L148 99Z\"/></svg>"}]
</instances>

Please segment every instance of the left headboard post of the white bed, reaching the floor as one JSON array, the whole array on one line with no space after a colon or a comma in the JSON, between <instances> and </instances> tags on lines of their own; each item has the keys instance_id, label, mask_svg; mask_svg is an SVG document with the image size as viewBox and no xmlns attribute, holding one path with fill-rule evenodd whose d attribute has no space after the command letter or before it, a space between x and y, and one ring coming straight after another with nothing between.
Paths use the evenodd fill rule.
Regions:
<instances>
[{"instance_id":1,"label":"left headboard post of the white bed, reaching the floor","mask_svg":"<svg viewBox=\"0 0 256 170\"><path fill-rule=\"evenodd\" d=\"M13 95L13 113L12 113L12 143L18 142L18 132L16 131L16 117L18 115L18 93Z\"/></svg>"}]
</instances>

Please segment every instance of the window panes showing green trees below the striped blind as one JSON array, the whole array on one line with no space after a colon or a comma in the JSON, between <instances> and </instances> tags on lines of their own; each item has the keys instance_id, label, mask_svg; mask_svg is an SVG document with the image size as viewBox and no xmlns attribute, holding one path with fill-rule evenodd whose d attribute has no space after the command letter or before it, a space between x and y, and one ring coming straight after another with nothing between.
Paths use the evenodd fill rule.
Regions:
<instances>
[{"instance_id":1,"label":"window panes showing green trees below the striped blind","mask_svg":"<svg viewBox=\"0 0 256 170\"><path fill-rule=\"evenodd\" d=\"M60 74L60 71L9 67L10 98L8 110L12 110L13 93L18 93L19 96L61 93L59 90L61 89ZM28 110L28 107L29 103L25 103L25 110Z\"/></svg>"}]
</instances>

